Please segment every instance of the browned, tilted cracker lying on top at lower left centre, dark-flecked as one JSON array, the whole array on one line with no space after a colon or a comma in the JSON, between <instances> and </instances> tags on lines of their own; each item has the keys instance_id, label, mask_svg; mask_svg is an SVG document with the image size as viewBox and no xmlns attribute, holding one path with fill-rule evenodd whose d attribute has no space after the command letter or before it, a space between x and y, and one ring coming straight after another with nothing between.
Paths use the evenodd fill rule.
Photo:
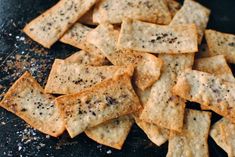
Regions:
<instances>
[{"instance_id":1,"label":"browned, tilted cracker lying on top at lower left centre, dark-flecked","mask_svg":"<svg viewBox=\"0 0 235 157\"><path fill-rule=\"evenodd\" d=\"M141 108L127 74L102 81L80 93L61 96L56 99L56 104L72 138L86 129Z\"/></svg>"}]
</instances>

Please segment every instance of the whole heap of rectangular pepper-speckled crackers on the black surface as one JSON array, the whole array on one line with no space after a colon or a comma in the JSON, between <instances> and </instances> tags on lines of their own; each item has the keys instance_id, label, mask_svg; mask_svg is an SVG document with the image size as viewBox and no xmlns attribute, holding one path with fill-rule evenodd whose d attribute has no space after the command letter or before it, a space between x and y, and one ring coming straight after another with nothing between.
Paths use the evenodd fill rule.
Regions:
<instances>
[{"instance_id":1,"label":"whole heap of rectangular pepper-speckled crackers on the black surface","mask_svg":"<svg viewBox=\"0 0 235 157\"><path fill-rule=\"evenodd\" d=\"M156 145L169 141L168 157L209 156L209 134L235 156L235 35L206 30L209 15L193 0L60 0L24 32L81 51L55 59L45 88L25 72L1 107L54 137L85 132L121 149L136 123ZM223 116L212 126L210 111Z\"/></svg>"}]
</instances>

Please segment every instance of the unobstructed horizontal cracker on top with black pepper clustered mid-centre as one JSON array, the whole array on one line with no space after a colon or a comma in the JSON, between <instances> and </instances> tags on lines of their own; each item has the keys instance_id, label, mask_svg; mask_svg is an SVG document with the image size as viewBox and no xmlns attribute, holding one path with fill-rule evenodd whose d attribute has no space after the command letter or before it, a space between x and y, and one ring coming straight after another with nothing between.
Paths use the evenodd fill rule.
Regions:
<instances>
[{"instance_id":1,"label":"unobstructed horizontal cracker on top with black pepper clustered mid-centre","mask_svg":"<svg viewBox=\"0 0 235 157\"><path fill-rule=\"evenodd\" d=\"M125 19L117 46L151 53L194 53L197 30L194 24L164 26Z\"/></svg>"}]
</instances>

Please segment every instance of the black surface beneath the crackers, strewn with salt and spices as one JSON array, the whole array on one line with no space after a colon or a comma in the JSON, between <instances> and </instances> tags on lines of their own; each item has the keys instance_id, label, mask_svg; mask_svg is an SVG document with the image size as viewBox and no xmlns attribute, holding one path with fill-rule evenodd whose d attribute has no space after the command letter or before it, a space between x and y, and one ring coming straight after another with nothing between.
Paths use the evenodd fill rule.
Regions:
<instances>
[{"instance_id":1,"label":"black surface beneath the crackers, strewn with salt and spices","mask_svg":"<svg viewBox=\"0 0 235 157\"><path fill-rule=\"evenodd\" d=\"M0 94L4 93L25 70L29 70L45 84L54 58L65 58L75 48L56 43L50 50L44 49L26 37L21 29L26 22L55 4L56 0L0 0ZM208 28L235 34L234 0L201 0L212 9ZM234 66L232 65L234 70ZM0 95L0 99L3 96ZM188 104L198 108L198 104ZM213 113L212 121L220 117ZM29 128L13 114L0 109L0 156L155 156L167 153L167 144L157 147L146 135L133 126L121 151L95 143L85 135L70 139L65 133L60 138L46 137ZM226 153L209 138L210 156L225 157Z\"/></svg>"}]
</instances>

